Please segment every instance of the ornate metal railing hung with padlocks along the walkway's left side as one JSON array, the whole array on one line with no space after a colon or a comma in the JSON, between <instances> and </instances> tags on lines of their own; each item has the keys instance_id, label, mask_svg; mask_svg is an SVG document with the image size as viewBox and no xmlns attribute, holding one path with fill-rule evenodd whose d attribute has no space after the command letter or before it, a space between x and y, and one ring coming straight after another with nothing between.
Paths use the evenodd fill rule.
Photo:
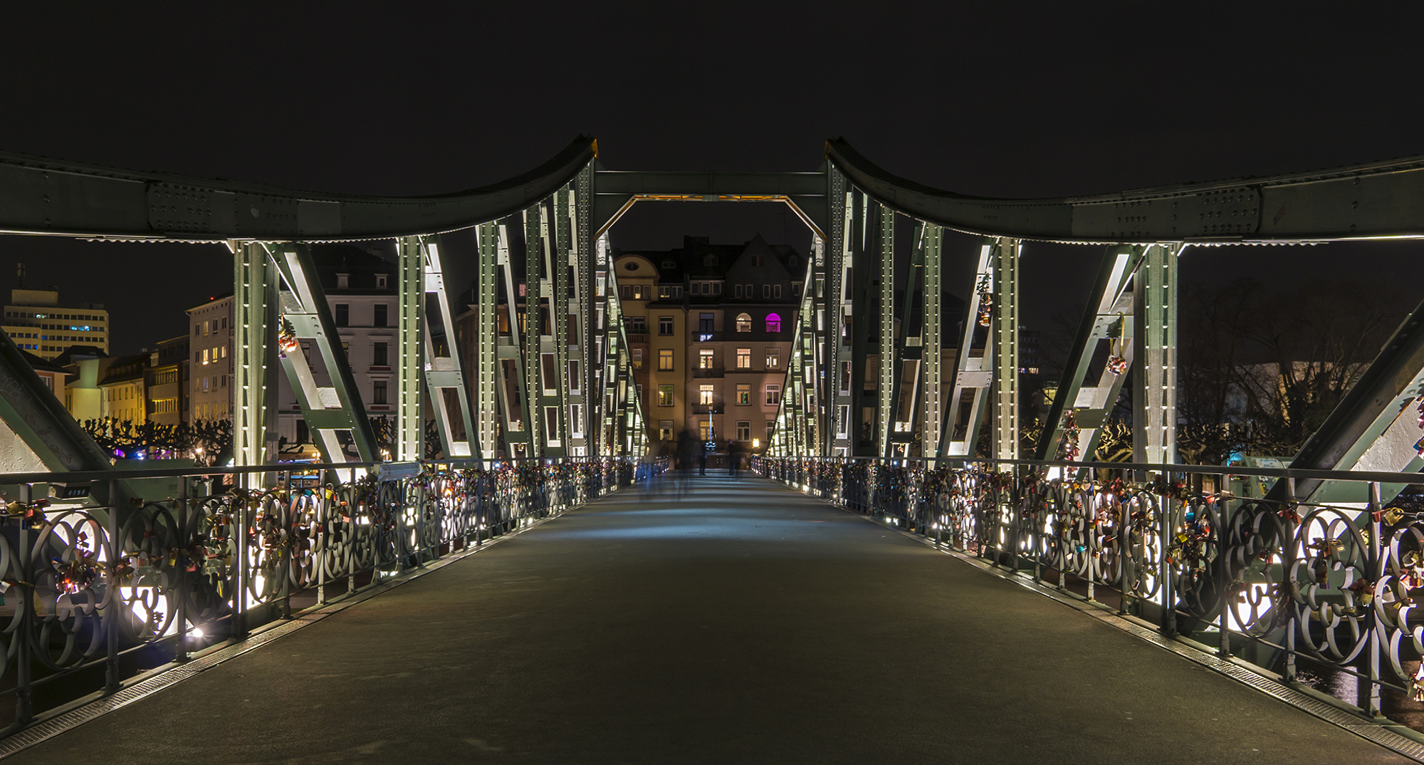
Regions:
<instances>
[{"instance_id":1,"label":"ornate metal railing hung with padlocks along the walkway's left side","mask_svg":"<svg viewBox=\"0 0 1424 765\"><path fill-rule=\"evenodd\" d=\"M373 472L335 480L352 467ZM19 493L0 516L0 698L13 697L0 735L629 486L634 470L562 457L0 474ZM142 479L177 490L63 499L154 486Z\"/></svg>"}]
</instances>

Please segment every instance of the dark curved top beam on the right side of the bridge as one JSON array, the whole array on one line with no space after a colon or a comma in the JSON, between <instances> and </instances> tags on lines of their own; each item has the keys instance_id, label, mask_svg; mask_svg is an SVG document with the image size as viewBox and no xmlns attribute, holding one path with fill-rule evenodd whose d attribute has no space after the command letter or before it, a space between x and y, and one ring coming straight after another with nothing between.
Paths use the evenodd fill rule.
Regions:
<instances>
[{"instance_id":1,"label":"dark curved top beam on the right side of the bridge","mask_svg":"<svg viewBox=\"0 0 1424 765\"><path fill-rule=\"evenodd\" d=\"M1424 157L1096 197L997 199L891 175L844 138L827 140L826 155L857 188L906 215L990 236L1102 244L1424 236Z\"/></svg>"}]
</instances>

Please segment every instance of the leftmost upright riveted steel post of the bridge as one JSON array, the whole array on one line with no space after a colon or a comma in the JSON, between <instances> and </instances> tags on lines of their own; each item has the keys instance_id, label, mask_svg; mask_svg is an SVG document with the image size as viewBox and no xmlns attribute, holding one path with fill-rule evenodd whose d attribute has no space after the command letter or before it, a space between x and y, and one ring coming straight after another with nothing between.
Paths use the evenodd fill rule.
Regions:
<instances>
[{"instance_id":1,"label":"leftmost upright riveted steel post of the bridge","mask_svg":"<svg viewBox=\"0 0 1424 765\"><path fill-rule=\"evenodd\" d=\"M232 459L238 467L276 460L276 368L272 329L276 325L276 274L261 244L232 245L234 323Z\"/></svg>"}]
</instances>

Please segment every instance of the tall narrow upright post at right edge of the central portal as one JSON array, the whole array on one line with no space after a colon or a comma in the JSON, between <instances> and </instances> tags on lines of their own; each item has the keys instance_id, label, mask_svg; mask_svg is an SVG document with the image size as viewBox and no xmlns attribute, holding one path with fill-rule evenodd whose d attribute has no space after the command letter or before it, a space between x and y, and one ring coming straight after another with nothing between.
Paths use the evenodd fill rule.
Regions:
<instances>
[{"instance_id":1,"label":"tall narrow upright post at right edge of the central portal","mask_svg":"<svg viewBox=\"0 0 1424 765\"><path fill-rule=\"evenodd\" d=\"M826 170L827 204L830 214L830 241L826 242L827 289L820 302L826 312L826 402L827 402L827 456L850 454L850 390L842 387L843 363L850 363L850 352L844 348L843 332L849 285L846 269L850 266L850 215L852 199L846 177L833 167Z\"/></svg>"}]
</instances>

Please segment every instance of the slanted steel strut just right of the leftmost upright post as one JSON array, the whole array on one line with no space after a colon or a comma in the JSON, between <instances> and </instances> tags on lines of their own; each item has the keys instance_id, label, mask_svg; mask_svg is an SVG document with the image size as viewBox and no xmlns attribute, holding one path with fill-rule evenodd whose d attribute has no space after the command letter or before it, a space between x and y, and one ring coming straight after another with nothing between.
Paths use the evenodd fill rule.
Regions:
<instances>
[{"instance_id":1,"label":"slanted steel strut just right of the leftmost upright post","mask_svg":"<svg viewBox=\"0 0 1424 765\"><path fill-rule=\"evenodd\" d=\"M376 437L306 245L282 242L266 249L282 276L279 359L308 429L328 462L376 462ZM322 360L328 385L316 380L303 343Z\"/></svg>"}]
</instances>

